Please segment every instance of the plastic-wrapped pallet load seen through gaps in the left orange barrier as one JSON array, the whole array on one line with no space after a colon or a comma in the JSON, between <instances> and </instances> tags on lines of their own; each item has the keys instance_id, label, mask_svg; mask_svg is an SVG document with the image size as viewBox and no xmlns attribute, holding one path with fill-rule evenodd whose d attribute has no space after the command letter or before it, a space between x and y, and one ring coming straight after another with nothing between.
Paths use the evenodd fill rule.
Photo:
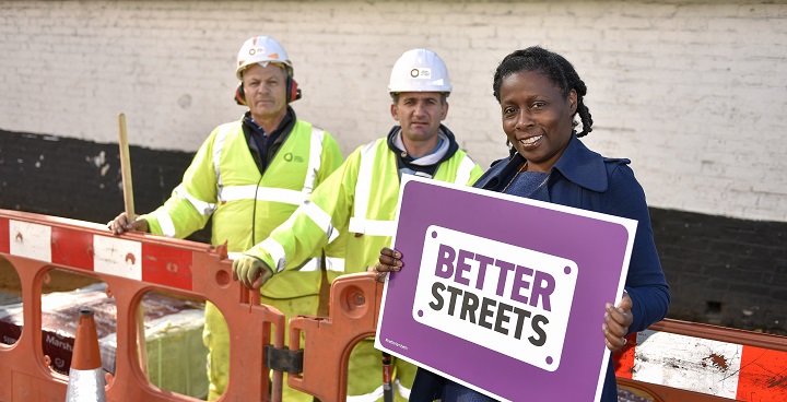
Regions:
<instances>
[{"instance_id":1,"label":"plastic-wrapped pallet load seen through gaps in the left orange barrier","mask_svg":"<svg viewBox=\"0 0 787 402\"><path fill-rule=\"evenodd\" d=\"M106 284L96 283L71 292L42 297L42 347L51 368L68 375L79 310L94 311L102 366L115 373L117 350L115 300L105 294ZM154 386L204 398L208 393L205 356L202 343L204 304L149 293L143 298L148 377ZM23 327L22 304L0 306L0 340L13 344Z\"/></svg>"}]
</instances>

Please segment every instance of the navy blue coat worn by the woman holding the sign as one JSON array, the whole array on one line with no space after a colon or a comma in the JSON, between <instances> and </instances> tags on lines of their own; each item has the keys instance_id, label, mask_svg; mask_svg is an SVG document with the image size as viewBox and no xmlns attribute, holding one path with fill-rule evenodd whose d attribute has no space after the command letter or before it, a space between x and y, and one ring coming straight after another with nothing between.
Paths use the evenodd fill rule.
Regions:
<instances>
[{"instance_id":1,"label":"navy blue coat worn by the woman holding the sign","mask_svg":"<svg viewBox=\"0 0 787 402\"><path fill-rule=\"evenodd\" d=\"M492 164L473 187L500 192L524 162L519 154L500 159ZM638 222L625 282L625 289L633 302L634 322L629 328L631 333L645 330L665 318L670 294L656 252L645 192L634 177L629 163L629 159L603 157L590 151L574 135L561 158L552 167L547 184L529 196L540 201ZM599 331L602 322L603 317L599 316ZM413 385L411 401L432 401L436 394L428 393L432 390L437 391L445 381L433 374L422 371L425 370L419 371ZM616 381L610 362L601 401L616 400Z\"/></svg>"}]
</instances>

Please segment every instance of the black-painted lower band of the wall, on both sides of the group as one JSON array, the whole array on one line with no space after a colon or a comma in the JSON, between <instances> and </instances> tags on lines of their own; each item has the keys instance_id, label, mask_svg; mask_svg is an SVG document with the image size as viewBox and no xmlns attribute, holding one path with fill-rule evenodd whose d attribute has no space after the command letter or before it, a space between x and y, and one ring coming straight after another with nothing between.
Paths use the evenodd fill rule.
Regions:
<instances>
[{"instance_id":1,"label":"black-painted lower band of the wall, on both sides of the group","mask_svg":"<svg viewBox=\"0 0 787 402\"><path fill-rule=\"evenodd\" d=\"M169 197L192 156L131 147L138 213ZM119 162L117 144L0 131L0 208L107 222L124 209ZM672 293L668 317L787 334L787 223L650 215ZM190 239L209 243L209 228Z\"/></svg>"}]
</instances>

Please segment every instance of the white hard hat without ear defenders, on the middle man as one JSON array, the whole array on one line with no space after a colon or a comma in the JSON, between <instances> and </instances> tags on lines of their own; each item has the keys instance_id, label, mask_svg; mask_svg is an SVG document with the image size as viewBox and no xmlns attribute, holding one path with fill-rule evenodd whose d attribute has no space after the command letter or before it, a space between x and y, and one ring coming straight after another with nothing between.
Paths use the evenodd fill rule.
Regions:
<instances>
[{"instance_id":1,"label":"white hard hat without ear defenders, on the middle man","mask_svg":"<svg viewBox=\"0 0 787 402\"><path fill-rule=\"evenodd\" d=\"M412 49L403 52L391 69L390 93L450 93L450 78L443 60L432 50Z\"/></svg>"}]
</instances>

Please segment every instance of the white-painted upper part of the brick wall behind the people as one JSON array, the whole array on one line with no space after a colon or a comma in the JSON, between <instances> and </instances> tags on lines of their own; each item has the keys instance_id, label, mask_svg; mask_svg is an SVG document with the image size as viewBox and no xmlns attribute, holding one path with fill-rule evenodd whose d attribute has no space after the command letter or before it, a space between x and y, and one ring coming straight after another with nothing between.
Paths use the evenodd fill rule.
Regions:
<instances>
[{"instance_id":1,"label":"white-painted upper part of the brick wall behind the people","mask_svg":"<svg viewBox=\"0 0 787 402\"><path fill-rule=\"evenodd\" d=\"M284 44L298 116L344 154L388 132L396 59L427 47L455 92L446 123L486 166L507 155L492 74L556 50L586 81L586 143L632 159L654 206L787 221L783 1L0 1L0 128L196 150L243 108L235 56Z\"/></svg>"}]
</instances>

